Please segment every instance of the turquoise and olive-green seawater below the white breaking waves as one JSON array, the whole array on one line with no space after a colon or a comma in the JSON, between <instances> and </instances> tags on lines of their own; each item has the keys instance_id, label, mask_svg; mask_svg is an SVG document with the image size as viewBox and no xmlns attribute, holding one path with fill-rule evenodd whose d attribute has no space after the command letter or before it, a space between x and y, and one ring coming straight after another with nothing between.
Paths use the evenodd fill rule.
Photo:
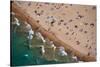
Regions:
<instances>
[{"instance_id":1,"label":"turquoise and olive-green seawater below the white breaking waves","mask_svg":"<svg viewBox=\"0 0 100 67\"><path fill-rule=\"evenodd\" d=\"M16 29L16 31L15 31ZM58 63L72 63L75 62L70 56L62 57L55 55L57 60L47 60L41 54L40 47L29 48L27 42L27 34L21 30L20 27L13 26L11 35L11 65L12 66L25 66L25 65L43 65L43 64L58 64ZM32 45L43 45L41 39L34 37ZM50 49L50 48L49 48ZM47 49L47 50L49 50ZM49 51L50 52L50 51Z\"/></svg>"}]
</instances>

